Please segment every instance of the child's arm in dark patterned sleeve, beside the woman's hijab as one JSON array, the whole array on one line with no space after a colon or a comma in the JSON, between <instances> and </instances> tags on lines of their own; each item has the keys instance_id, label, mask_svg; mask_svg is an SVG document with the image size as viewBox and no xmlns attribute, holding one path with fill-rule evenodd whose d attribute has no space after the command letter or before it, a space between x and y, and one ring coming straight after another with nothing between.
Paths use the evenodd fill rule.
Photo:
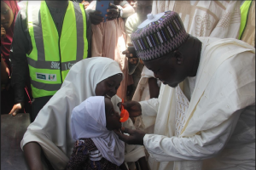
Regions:
<instances>
[{"instance_id":1,"label":"child's arm in dark patterned sleeve, beside the woman's hijab","mask_svg":"<svg viewBox=\"0 0 256 170\"><path fill-rule=\"evenodd\" d=\"M84 161L88 158L89 152L83 142L76 141L73 153L67 163L66 170L82 170Z\"/></svg>"}]
</instances>

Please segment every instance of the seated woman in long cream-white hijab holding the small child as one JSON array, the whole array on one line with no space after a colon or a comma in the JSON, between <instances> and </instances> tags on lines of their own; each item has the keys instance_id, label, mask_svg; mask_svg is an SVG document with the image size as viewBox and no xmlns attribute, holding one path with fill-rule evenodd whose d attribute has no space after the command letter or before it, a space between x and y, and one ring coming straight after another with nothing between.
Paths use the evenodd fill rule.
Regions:
<instances>
[{"instance_id":1,"label":"seated woman in long cream-white hijab holding the small child","mask_svg":"<svg viewBox=\"0 0 256 170\"><path fill-rule=\"evenodd\" d=\"M116 95L123 73L113 59L94 57L73 65L60 90L44 105L35 121L27 127L21 140L30 169L41 170L41 153L55 170L65 169L72 154L71 113L73 108L91 96L111 98L113 109L119 111L121 101ZM132 127L131 119L123 123ZM145 156L143 146L139 156ZM47 167L45 167L47 169Z\"/></svg>"}]
</instances>

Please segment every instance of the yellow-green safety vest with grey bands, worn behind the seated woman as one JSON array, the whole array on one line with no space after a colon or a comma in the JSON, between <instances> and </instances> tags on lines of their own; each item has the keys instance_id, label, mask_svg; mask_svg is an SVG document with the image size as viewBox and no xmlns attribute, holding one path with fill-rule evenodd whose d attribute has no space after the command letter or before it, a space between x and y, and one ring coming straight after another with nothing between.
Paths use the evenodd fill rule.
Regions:
<instances>
[{"instance_id":1,"label":"yellow-green safety vest with grey bands, worn behind the seated woman","mask_svg":"<svg viewBox=\"0 0 256 170\"><path fill-rule=\"evenodd\" d=\"M71 66L87 57L84 6L69 1L60 36L45 1L28 2L26 8L32 42L32 51L26 55L32 96L51 96L61 88Z\"/></svg>"}]
</instances>

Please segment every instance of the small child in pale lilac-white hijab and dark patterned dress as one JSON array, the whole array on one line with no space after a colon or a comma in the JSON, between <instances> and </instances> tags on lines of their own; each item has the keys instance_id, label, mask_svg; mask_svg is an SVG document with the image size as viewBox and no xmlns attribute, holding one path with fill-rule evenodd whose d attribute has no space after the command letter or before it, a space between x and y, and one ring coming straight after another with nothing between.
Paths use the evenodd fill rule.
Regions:
<instances>
[{"instance_id":1,"label":"small child in pale lilac-white hijab and dark patterned dress","mask_svg":"<svg viewBox=\"0 0 256 170\"><path fill-rule=\"evenodd\" d=\"M76 140L67 170L126 169L125 143L113 133L121 122L110 99L94 96L76 106L71 115L72 138Z\"/></svg>"}]
</instances>

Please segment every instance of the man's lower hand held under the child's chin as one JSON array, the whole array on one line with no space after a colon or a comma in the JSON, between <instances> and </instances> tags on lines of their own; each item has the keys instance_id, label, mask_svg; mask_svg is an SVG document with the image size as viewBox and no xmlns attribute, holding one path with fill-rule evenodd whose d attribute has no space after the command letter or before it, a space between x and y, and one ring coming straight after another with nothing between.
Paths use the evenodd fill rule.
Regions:
<instances>
[{"instance_id":1,"label":"man's lower hand held under the child's chin","mask_svg":"<svg viewBox=\"0 0 256 170\"><path fill-rule=\"evenodd\" d=\"M113 130L119 136L120 140L123 140L126 144L141 144L143 145L143 138L146 133L141 130L132 130L130 128L121 127L121 132L119 130ZM123 133L128 133L130 136Z\"/></svg>"}]
</instances>

